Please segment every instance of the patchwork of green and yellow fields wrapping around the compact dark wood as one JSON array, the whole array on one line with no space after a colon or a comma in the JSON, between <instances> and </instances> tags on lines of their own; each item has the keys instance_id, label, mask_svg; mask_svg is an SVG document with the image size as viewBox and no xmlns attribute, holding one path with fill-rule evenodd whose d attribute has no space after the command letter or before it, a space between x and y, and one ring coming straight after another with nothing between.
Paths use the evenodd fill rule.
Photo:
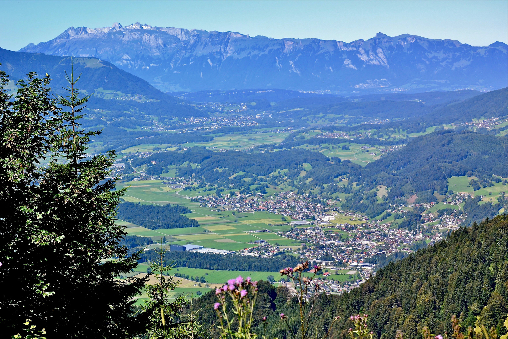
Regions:
<instances>
[{"instance_id":1,"label":"patchwork of green and yellow fields wrapping around the compact dark wood","mask_svg":"<svg viewBox=\"0 0 508 339\"><path fill-rule=\"evenodd\" d=\"M199 203L186 199L184 193L189 191L171 190L162 180L140 180L130 183L118 183L118 189L128 188L123 196L126 201L141 202L142 204L180 204L192 210L185 214L188 218L195 219L200 227L187 227L176 229L150 230L138 225L118 221L126 226L130 235L151 237L159 241L163 236L171 236L167 240L171 244L202 245L207 248L238 251L255 246L257 240L266 240L273 245L298 248L293 239L279 236L278 231L285 231L289 225L271 226L281 223L281 216L269 212L235 213L231 210L210 209L200 207ZM291 221L290 218L287 218ZM269 230L270 232L250 233L249 231Z\"/></svg>"}]
</instances>

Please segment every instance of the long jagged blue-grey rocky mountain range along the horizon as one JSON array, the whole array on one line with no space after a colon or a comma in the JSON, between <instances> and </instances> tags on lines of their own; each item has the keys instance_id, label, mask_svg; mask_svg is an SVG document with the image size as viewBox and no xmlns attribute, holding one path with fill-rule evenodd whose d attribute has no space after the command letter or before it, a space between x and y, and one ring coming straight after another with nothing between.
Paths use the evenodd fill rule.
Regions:
<instances>
[{"instance_id":1,"label":"long jagged blue-grey rocky mountain range along the horizon","mask_svg":"<svg viewBox=\"0 0 508 339\"><path fill-rule=\"evenodd\" d=\"M70 27L20 51L98 57L165 91L284 88L361 94L508 85L508 45L473 47L408 34L378 33L345 43L115 23Z\"/></svg>"}]
</instances>

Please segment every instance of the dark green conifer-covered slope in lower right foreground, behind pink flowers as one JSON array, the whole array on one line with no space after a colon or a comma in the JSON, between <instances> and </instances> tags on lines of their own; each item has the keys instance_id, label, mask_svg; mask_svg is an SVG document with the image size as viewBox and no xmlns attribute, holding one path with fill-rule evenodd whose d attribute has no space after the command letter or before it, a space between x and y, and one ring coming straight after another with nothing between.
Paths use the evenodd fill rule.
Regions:
<instances>
[{"instance_id":1,"label":"dark green conifer-covered slope in lower right foreground, behind pink flowers","mask_svg":"<svg viewBox=\"0 0 508 339\"><path fill-rule=\"evenodd\" d=\"M254 317L258 333L263 333L261 318L268 318L267 336L289 338L279 314L290 319L297 331L298 302L285 287L259 286ZM200 320L218 332L215 293L193 301L201 309ZM389 263L377 275L350 293L322 294L317 298L310 318L308 335L323 337L333 318L340 316L330 332L333 338L348 337L350 315L369 314L368 327L375 338L392 339L397 329L404 338L421 337L423 326L431 333L452 331L450 318L457 315L463 328L485 325L506 333L508 312L508 217L500 215L470 228L461 228L447 239L396 263Z\"/></svg>"}]
</instances>

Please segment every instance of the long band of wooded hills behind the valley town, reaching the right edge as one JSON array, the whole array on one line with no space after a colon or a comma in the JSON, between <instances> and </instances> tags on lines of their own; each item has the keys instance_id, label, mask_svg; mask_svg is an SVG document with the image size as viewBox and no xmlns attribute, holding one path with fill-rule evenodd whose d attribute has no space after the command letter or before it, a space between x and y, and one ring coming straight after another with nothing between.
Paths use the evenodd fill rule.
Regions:
<instances>
[{"instance_id":1,"label":"long band of wooded hills behind the valley town, reaching the right edge","mask_svg":"<svg viewBox=\"0 0 508 339\"><path fill-rule=\"evenodd\" d=\"M320 140L332 139L311 138L281 145L289 148ZM161 174L168 166L177 166L180 176L194 175L226 190L249 190L254 183L259 187L277 186L282 176L292 180L291 186L302 191L329 184L326 189L321 187L321 193L352 193L346 197L343 207L367 213L369 218L383 213L390 203L403 203L410 197L417 203L437 201L434 193L446 194L448 178L452 176L474 175L486 183L500 180L492 174L508 176L505 166L508 163L508 138L467 131L442 130L414 138L405 147L365 167L301 148L276 150L281 147L263 146L268 149L257 152L213 152L194 147L183 152L155 153L148 158L136 159L132 164L134 167L147 165L146 172L150 175ZM304 163L310 164L311 168L303 171ZM193 168L190 164L199 166ZM283 169L289 171L283 175L277 173ZM345 175L349 177L349 185L338 185L335 179ZM356 182L354 187L353 182ZM379 185L389 188L386 202L378 202L373 191ZM501 208L498 207L497 210ZM491 215L489 211L474 214L477 217L472 221Z\"/></svg>"}]
</instances>

